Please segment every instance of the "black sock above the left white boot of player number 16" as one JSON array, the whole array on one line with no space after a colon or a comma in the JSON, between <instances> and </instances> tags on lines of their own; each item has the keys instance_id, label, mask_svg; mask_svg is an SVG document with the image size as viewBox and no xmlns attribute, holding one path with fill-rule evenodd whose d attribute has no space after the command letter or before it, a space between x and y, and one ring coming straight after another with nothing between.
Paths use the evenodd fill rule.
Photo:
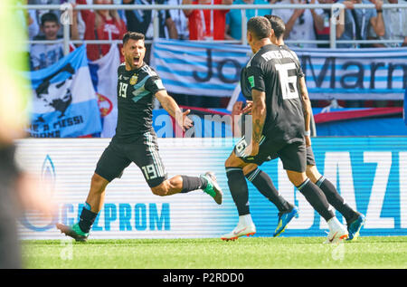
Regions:
<instances>
[{"instance_id":1,"label":"black sock above the left white boot of player number 16","mask_svg":"<svg viewBox=\"0 0 407 287\"><path fill-rule=\"evenodd\" d=\"M226 177L231 195L238 209L239 216L250 214L249 189L240 167L226 167Z\"/></svg>"}]
</instances>

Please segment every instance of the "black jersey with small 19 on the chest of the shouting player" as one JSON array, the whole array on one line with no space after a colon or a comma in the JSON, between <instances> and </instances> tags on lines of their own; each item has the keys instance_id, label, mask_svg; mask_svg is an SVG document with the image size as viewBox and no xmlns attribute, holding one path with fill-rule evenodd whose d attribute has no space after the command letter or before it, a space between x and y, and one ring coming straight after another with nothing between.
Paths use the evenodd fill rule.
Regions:
<instances>
[{"instance_id":1,"label":"black jersey with small 19 on the chest of the shouting player","mask_svg":"<svg viewBox=\"0 0 407 287\"><path fill-rule=\"evenodd\" d=\"M118 66L118 126L115 139L131 141L153 129L153 102L157 91L166 90L156 71L146 63L127 71Z\"/></svg>"}]
</instances>

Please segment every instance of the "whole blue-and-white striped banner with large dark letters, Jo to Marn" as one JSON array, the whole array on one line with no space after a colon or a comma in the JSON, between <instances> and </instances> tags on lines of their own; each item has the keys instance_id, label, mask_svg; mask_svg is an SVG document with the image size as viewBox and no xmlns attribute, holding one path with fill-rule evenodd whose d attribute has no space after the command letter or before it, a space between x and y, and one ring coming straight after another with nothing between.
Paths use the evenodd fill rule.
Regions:
<instances>
[{"instance_id":1,"label":"whole blue-and-white striped banner with large dark letters, Jo to Marn","mask_svg":"<svg viewBox=\"0 0 407 287\"><path fill-rule=\"evenodd\" d=\"M311 99L402 100L407 49L293 49L306 74ZM152 66L170 92L230 97L249 46L158 40Z\"/></svg>"}]
</instances>

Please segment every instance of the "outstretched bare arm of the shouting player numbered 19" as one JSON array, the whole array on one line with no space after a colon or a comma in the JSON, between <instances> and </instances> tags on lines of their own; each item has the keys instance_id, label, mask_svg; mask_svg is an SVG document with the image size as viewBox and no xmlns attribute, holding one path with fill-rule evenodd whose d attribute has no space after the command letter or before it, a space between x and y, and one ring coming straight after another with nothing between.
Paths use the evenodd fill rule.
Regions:
<instances>
[{"instance_id":1,"label":"outstretched bare arm of the shouting player numbered 19","mask_svg":"<svg viewBox=\"0 0 407 287\"><path fill-rule=\"evenodd\" d=\"M173 97L168 95L165 90L156 92L156 99L159 100L161 106L175 119L176 123L183 128L183 131L190 129L194 123L187 117L191 110L182 112Z\"/></svg>"}]
</instances>

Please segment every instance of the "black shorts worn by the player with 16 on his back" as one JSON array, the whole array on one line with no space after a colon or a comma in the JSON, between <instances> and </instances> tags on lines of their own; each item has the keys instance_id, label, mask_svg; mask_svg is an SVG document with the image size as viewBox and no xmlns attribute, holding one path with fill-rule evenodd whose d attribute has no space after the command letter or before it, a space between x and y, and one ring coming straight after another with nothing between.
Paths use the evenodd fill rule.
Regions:
<instances>
[{"instance_id":1,"label":"black shorts worn by the player with 16 on his back","mask_svg":"<svg viewBox=\"0 0 407 287\"><path fill-rule=\"evenodd\" d=\"M245 148L249 143L243 136L233 148L235 155L246 163L253 163L260 166L265 161L280 158L284 169L297 172L305 172L307 168L307 149L304 141L294 141L292 143L278 143L267 136L260 139L259 153L255 157L246 157ZM312 149L311 149L312 153ZM312 158L314 154L312 154Z\"/></svg>"}]
</instances>

